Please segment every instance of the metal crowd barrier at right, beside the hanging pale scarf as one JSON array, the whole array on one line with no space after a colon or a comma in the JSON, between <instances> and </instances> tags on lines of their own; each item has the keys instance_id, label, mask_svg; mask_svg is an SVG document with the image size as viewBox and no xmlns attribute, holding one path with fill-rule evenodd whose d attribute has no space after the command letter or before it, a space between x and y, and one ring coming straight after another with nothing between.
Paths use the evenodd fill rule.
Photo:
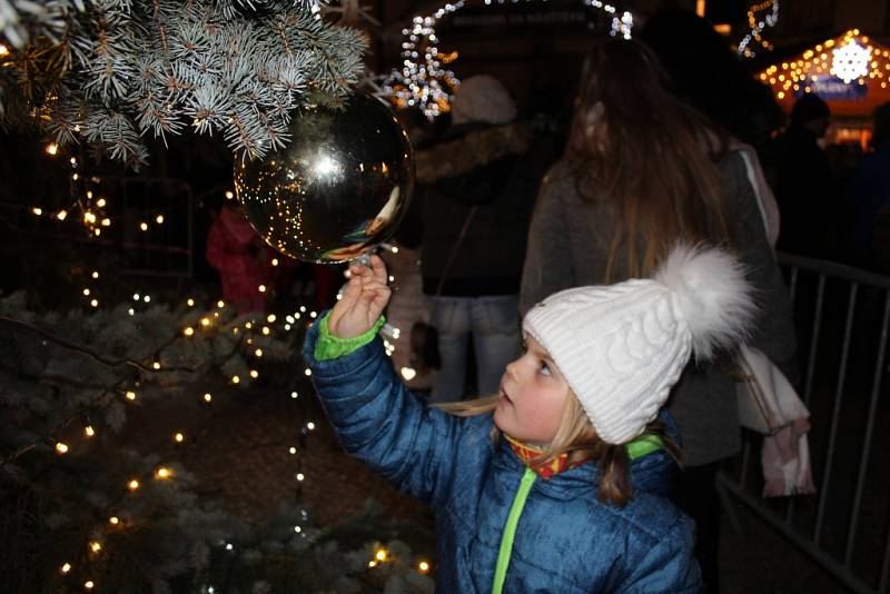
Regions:
<instances>
[{"instance_id":1,"label":"metal crowd barrier at right, beside the hanging pale scarf","mask_svg":"<svg viewBox=\"0 0 890 594\"><path fill-rule=\"evenodd\" d=\"M890 580L890 277L781 254L794 303L798 386L810 410L814 495L764 499L761 436L744 432L721 471L723 495L744 504L839 582L886 593ZM730 505L730 511L732 505Z\"/></svg>"}]
</instances>

